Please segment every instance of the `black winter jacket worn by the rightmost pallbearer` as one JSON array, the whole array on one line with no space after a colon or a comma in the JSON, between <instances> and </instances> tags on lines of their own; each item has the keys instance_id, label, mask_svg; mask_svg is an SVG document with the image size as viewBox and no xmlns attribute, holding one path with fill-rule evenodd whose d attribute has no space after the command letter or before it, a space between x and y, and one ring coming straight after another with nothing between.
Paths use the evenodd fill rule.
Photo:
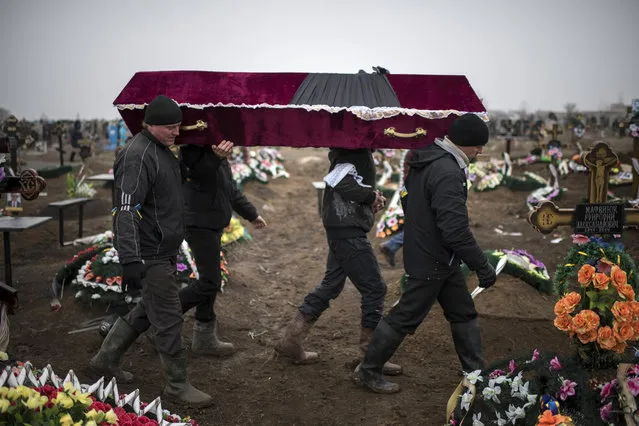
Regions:
<instances>
[{"instance_id":1,"label":"black winter jacket worn by the rightmost pallbearer","mask_svg":"<svg viewBox=\"0 0 639 426\"><path fill-rule=\"evenodd\" d=\"M416 278L443 279L460 261L476 271L487 262L469 228L464 169L436 144L409 161L404 208L404 268Z\"/></svg>"}]
</instances>

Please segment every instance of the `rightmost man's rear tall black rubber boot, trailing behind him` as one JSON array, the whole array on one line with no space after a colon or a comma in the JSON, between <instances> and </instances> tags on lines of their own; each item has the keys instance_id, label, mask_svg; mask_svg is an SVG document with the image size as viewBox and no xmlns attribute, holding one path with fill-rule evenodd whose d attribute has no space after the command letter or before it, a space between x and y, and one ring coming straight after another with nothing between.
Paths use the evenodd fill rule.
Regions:
<instances>
[{"instance_id":1,"label":"rightmost man's rear tall black rubber boot, trailing behind him","mask_svg":"<svg viewBox=\"0 0 639 426\"><path fill-rule=\"evenodd\" d=\"M357 366L353 380L359 386L375 393L397 393L399 385L384 379L384 364L393 356L404 335L393 330L381 320L373 333L364 360Z\"/></svg>"}]
</instances>

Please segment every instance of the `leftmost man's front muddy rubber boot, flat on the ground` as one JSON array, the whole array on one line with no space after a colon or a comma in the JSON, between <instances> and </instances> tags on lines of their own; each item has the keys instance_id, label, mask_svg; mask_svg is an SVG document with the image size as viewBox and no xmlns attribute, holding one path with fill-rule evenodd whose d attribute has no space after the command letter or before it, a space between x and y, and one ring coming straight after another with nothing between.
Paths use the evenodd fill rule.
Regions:
<instances>
[{"instance_id":1,"label":"leftmost man's front muddy rubber boot, flat on the ground","mask_svg":"<svg viewBox=\"0 0 639 426\"><path fill-rule=\"evenodd\" d=\"M160 353L167 384L164 396L175 404L190 408L204 408L213 405L213 398L189 383L186 369L186 350L171 356Z\"/></svg>"}]
</instances>

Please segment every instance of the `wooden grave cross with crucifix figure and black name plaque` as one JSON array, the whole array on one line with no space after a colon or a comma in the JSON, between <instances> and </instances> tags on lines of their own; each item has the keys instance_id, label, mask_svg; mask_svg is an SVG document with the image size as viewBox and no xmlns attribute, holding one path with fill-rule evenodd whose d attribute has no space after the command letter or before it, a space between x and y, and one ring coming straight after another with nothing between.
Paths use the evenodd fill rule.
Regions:
<instances>
[{"instance_id":1,"label":"wooden grave cross with crucifix figure and black name plaque","mask_svg":"<svg viewBox=\"0 0 639 426\"><path fill-rule=\"evenodd\" d=\"M606 203L610 169L618 157L603 142L582 155L589 169L588 202L575 209L560 209L552 201L544 201L528 216L528 222L542 234L550 234L559 226L572 226L575 234L621 234L624 226L639 227L639 209Z\"/></svg>"}]
</instances>

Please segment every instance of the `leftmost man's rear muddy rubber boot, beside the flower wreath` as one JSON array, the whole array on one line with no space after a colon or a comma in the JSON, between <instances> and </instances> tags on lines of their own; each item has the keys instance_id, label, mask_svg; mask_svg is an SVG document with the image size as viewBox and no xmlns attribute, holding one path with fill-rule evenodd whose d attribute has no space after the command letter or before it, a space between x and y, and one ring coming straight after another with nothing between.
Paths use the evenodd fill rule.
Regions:
<instances>
[{"instance_id":1,"label":"leftmost man's rear muddy rubber boot, beside the flower wreath","mask_svg":"<svg viewBox=\"0 0 639 426\"><path fill-rule=\"evenodd\" d=\"M118 383L131 383L133 374L122 370L120 361L122 360L122 355L135 342L138 335L138 332L124 319L118 318L102 342L98 353L89 361L91 373L104 376L105 379L115 377Z\"/></svg>"}]
</instances>

